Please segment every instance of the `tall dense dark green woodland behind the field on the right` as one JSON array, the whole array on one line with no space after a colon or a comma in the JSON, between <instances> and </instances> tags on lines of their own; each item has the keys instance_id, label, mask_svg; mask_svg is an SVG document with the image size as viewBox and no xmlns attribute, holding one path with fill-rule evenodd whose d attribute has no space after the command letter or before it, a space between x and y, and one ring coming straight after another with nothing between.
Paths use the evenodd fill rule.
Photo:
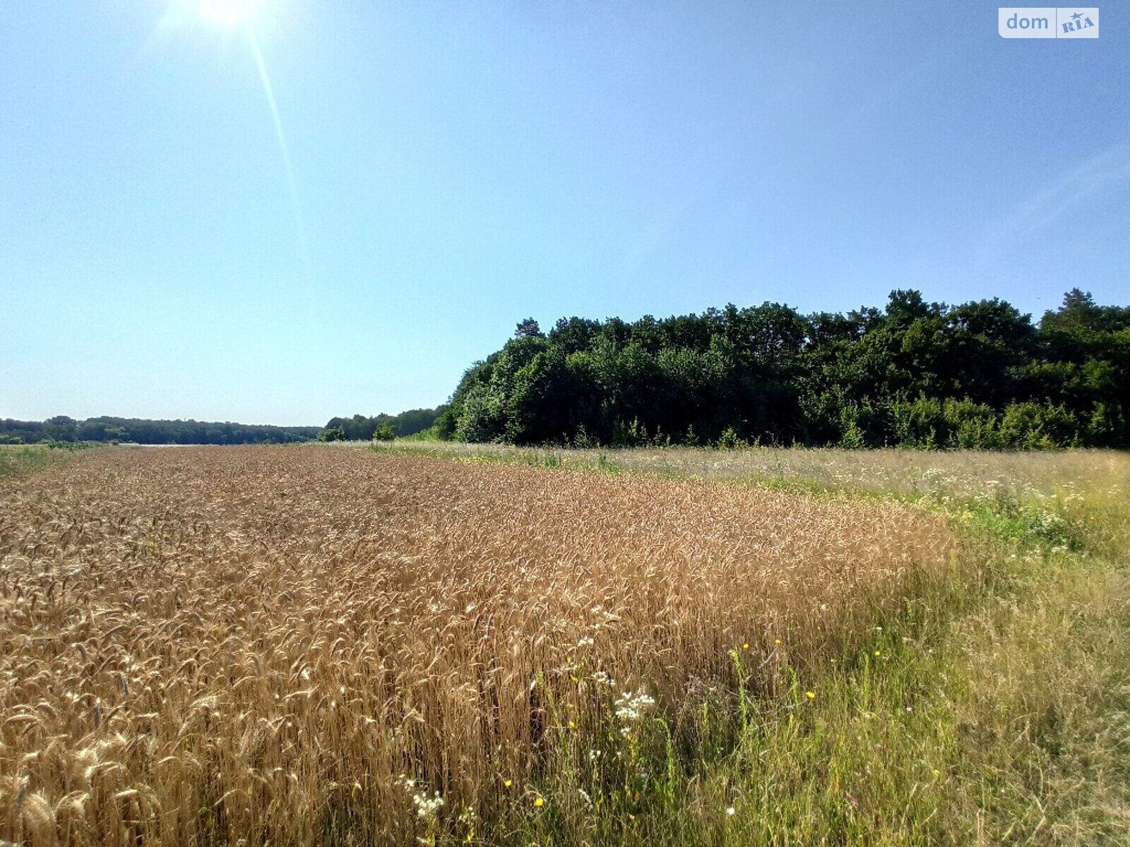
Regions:
<instances>
[{"instance_id":1,"label":"tall dense dark green woodland behind the field on the right","mask_svg":"<svg viewBox=\"0 0 1130 847\"><path fill-rule=\"evenodd\" d=\"M1000 299L897 290L883 309L773 303L532 318L463 375L443 438L575 445L1130 446L1130 307L1069 291L1038 324Z\"/></svg>"}]
</instances>

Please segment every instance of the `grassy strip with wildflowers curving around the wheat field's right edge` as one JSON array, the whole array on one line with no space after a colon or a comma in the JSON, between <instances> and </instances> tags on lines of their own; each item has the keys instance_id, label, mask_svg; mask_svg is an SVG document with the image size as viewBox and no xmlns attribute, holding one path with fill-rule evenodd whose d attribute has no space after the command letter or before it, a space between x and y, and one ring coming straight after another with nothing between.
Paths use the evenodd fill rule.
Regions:
<instances>
[{"instance_id":1,"label":"grassy strip with wildflowers curving around the wheat field's right edge","mask_svg":"<svg viewBox=\"0 0 1130 847\"><path fill-rule=\"evenodd\" d=\"M776 682L746 691L734 645L738 696L688 693L694 732L686 715L647 713L610 719L596 750L563 733L487 840L1130 840L1127 456L391 449L892 497L942 512L964 540L968 567L916 585L869 643L808 669L803 689L783 644Z\"/></svg>"}]
</instances>

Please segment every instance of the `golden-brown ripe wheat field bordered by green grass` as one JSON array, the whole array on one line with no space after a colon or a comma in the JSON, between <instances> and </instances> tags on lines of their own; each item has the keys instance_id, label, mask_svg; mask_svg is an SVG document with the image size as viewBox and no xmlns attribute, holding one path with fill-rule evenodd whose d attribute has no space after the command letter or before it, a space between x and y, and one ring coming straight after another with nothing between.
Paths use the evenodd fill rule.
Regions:
<instances>
[{"instance_id":1,"label":"golden-brown ripe wheat field bordered by green grass","mask_svg":"<svg viewBox=\"0 0 1130 847\"><path fill-rule=\"evenodd\" d=\"M484 837L643 713L694 743L710 692L803 690L954 559L940 519L879 501L92 451L0 483L0 838Z\"/></svg>"}]
</instances>

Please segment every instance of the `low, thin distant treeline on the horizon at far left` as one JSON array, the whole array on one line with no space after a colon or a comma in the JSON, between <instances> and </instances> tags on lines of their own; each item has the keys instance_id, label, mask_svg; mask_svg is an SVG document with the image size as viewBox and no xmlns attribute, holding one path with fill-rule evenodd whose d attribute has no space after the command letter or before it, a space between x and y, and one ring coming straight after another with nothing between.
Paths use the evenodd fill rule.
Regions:
<instances>
[{"instance_id":1,"label":"low, thin distant treeline on the horizon at far left","mask_svg":"<svg viewBox=\"0 0 1130 847\"><path fill-rule=\"evenodd\" d=\"M141 418L87 418L66 414L44 421L0 420L0 443L132 442L134 444L286 444L305 442L318 427L275 427L205 420L145 420Z\"/></svg>"}]
</instances>

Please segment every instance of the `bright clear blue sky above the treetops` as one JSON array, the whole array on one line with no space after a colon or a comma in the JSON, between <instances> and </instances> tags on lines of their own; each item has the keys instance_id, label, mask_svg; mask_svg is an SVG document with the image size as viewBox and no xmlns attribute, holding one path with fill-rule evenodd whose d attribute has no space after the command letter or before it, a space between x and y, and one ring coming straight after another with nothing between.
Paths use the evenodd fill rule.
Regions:
<instances>
[{"instance_id":1,"label":"bright clear blue sky above the treetops","mask_svg":"<svg viewBox=\"0 0 1130 847\"><path fill-rule=\"evenodd\" d=\"M199 6L0 5L0 417L434 405L528 315L1130 303L1124 3L1097 41L985 3L262 0L254 40Z\"/></svg>"}]
</instances>

